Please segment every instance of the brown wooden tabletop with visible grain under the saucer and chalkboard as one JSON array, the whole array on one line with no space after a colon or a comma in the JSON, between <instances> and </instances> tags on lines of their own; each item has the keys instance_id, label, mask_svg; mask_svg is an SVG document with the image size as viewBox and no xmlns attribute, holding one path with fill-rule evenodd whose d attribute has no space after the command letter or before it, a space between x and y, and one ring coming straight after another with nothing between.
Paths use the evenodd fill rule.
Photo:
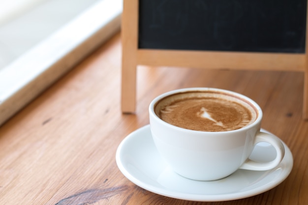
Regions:
<instances>
[{"instance_id":1,"label":"brown wooden tabletop with visible grain under the saucer and chalkboard","mask_svg":"<svg viewBox=\"0 0 308 205\"><path fill-rule=\"evenodd\" d=\"M0 127L0 204L307 205L303 84L300 72L139 67L137 111L124 115L117 34ZM291 174L263 194L214 203L168 198L130 182L117 167L117 147L149 123L148 105L155 96L185 87L230 89L255 100L264 112L262 127L293 153Z\"/></svg>"}]
</instances>

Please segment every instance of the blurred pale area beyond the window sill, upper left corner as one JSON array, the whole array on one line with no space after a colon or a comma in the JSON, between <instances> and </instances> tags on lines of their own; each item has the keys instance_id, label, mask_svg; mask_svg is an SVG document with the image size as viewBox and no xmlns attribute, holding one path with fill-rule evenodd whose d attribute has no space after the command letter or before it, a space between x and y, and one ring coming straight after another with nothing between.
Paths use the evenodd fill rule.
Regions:
<instances>
[{"instance_id":1,"label":"blurred pale area beyond the window sill, upper left corner","mask_svg":"<svg viewBox=\"0 0 308 205\"><path fill-rule=\"evenodd\" d=\"M99 0L0 0L0 69Z\"/></svg>"}]
</instances>

